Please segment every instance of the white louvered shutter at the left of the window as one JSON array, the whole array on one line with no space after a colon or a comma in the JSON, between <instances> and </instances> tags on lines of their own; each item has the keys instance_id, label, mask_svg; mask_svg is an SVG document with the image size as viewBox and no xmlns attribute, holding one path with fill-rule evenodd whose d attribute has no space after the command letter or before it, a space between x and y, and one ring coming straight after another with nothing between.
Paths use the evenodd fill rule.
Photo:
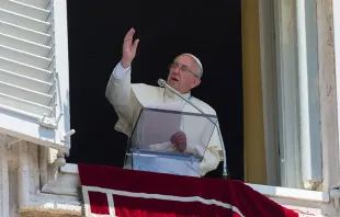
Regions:
<instances>
[{"instance_id":1,"label":"white louvered shutter at the left of the window","mask_svg":"<svg viewBox=\"0 0 340 217\"><path fill-rule=\"evenodd\" d=\"M67 152L66 0L0 0L0 130Z\"/></svg>"}]
</instances>

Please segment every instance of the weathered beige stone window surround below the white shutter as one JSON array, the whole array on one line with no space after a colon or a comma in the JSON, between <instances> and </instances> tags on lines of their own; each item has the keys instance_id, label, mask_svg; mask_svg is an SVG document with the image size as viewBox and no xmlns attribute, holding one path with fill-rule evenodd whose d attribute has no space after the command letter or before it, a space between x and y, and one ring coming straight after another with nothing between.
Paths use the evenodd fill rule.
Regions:
<instances>
[{"instance_id":1,"label":"weathered beige stone window surround below the white shutter","mask_svg":"<svg viewBox=\"0 0 340 217\"><path fill-rule=\"evenodd\" d=\"M7 148L11 141L13 138L0 135L0 216L82 216L78 176L49 172L49 181L43 185L41 147L19 141Z\"/></svg>"}]
</instances>

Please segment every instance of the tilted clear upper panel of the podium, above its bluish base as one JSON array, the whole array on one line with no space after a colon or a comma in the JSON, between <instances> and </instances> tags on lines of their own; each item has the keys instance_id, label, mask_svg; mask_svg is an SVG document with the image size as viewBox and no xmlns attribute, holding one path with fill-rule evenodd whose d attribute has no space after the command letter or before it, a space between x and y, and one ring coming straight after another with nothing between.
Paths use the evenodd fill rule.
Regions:
<instances>
[{"instance_id":1,"label":"tilted clear upper panel of the podium, above its bluish base","mask_svg":"<svg viewBox=\"0 0 340 217\"><path fill-rule=\"evenodd\" d=\"M131 149L139 151L181 153L202 159L216 124L216 115L145 107L128 144ZM185 135L186 148L171 142L179 132Z\"/></svg>"}]
</instances>

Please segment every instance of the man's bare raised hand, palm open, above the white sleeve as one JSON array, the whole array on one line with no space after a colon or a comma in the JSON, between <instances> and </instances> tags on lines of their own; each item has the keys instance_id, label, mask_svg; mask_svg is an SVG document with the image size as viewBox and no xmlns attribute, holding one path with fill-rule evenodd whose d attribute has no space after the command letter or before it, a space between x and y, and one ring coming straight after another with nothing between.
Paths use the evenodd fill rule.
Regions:
<instances>
[{"instance_id":1,"label":"man's bare raised hand, palm open, above the white sleeve","mask_svg":"<svg viewBox=\"0 0 340 217\"><path fill-rule=\"evenodd\" d=\"M123 58L122 58L122 66L124 68L129 67L136 56L136 50L137 50L139 39L135 39L135 42L133 42L134 34L135 34L135 30L131 28L124 37Z\"/></svg>"}]
</instances>

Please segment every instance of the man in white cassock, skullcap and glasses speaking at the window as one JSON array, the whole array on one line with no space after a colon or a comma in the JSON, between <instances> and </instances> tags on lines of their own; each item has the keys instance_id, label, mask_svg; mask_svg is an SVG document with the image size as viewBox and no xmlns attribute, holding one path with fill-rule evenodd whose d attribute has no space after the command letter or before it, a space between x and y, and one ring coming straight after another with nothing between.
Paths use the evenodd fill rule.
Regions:
<instances>
[{"instance_id":1,"label":"man in white cassock, skullcap and glasses speaking at the window","mask_svg":"<svg viewBox=\"0 0 340 217\"><path fill-rule=\"evenodd\" d=\"M133 39L135 30L131 28L124 38L122 60L114 68L107 87L106 98L114 106L118 115L115 125L117 132L124 133L128 137L132 136L134 126L138 119L138 115L143 107L157 103L180 103L182 111L190 113L200 113L195 107L185 103L181 98L169 91L168 89L147 85L144 83L132 84L132 62L136 55L139 39ZM191 95L191 90L201 83L203 67L201 61L191 54L182 54L173 60L169 67L169 76L167 83L180 92L186 99L190 99L206 114L216 115L214 108L203 101ZM191 126L194 127L194 126ZM182 152L197 153L199 147L192 147L186 141L184 132L179 130L169 138L171 145ZM200 162L200 175L203 176L207 172L215 170L222 161L222 147L218 135L214 130L207 149L203 153L203 160ZM127 168L127 167L125 167Z\"/></svg>"}]
</instances>

